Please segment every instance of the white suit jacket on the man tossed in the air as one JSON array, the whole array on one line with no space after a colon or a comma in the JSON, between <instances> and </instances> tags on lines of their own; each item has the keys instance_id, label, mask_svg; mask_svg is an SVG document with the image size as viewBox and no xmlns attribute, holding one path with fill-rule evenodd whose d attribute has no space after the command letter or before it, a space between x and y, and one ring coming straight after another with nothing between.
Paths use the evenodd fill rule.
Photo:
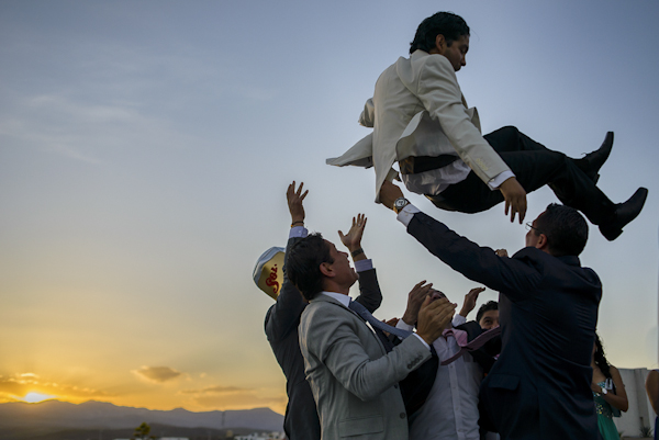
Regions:
<instances>
[{"instance_id":1,"label":"white suit jacket on the man tossed in the air","mask_svg":"<svg viewBox=\"0 0 659 440\"><path fill-rule=\"evenodd\" d=\"M448 59L415 50L380 75L359 123L373 133L328 165L376 168L376 202L395 161L411 156L457 155L485 183L510 168L483 139L476 108L469 109Z\"/></svg>"}]
</instances>

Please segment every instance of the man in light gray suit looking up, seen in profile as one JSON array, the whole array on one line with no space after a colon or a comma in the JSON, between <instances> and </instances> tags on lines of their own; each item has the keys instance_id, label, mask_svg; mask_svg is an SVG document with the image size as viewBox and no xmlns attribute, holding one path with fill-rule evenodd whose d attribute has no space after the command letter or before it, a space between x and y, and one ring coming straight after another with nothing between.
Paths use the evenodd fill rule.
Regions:
<instances>
[{"instance_id":1,"label":"man in light gray suit looking up, seen in profile","mask_svg":"<svg viewBox=\"0 0 659 440\"><path fill-rule=\"evenodd\" d=\"M347 253L312 234L289 249L286 266L290 281L310 302L300 321L300 349L323 440L406 440L407 415L398 383L431 358L429 343L456 305L426 298L417 332L387 352L351 309L348 293L357 273Z\"/></svg>"}]
</instances>

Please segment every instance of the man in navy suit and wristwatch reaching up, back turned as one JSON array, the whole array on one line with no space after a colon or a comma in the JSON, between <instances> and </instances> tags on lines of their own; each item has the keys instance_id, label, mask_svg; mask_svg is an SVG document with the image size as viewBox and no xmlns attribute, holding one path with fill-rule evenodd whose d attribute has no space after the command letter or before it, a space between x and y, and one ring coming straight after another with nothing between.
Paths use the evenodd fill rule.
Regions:
<instances>
[{"instance_id":1,"label":"man in navy suit and wristwatch reaching up, back turned","mask_svg":"<svg viewBox=\"0 0 659 440\"><path fill-rule=\"evenodd\" d=\"M386 206L431 253L500 292L502 351L481 385L481 421L503 440L599 438L590 382L602 284L582 268L588 224L551 204L527 224L526 247L512 258L460 237L420 212L386 182Z\"/></svg>"}]
</instances>

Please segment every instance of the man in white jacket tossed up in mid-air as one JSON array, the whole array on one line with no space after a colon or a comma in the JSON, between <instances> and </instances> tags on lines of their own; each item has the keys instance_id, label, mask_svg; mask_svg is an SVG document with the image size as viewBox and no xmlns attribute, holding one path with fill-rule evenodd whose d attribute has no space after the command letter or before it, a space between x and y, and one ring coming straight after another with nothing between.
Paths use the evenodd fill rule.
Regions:
<instances>
[{"instance_id":1,"label":"man in white jacket tossed up in mid-air","mask_svg":"<svg viewBox=\"0 0 659 440\"><path fill-rule=\"evenodd\" d=\"M600 168L613 146L610 132L602 146L581 159L547 149L513 126L485 136L476 108L469 109L456 72L466 66L469 26L450 12L437 12L418 26L410 58L399 58L376 83L359 123L372 127L335 166L376 169L380 188L398 172L407 190L425 194L437 207L477 213L505 201L511 221L526 213L526 193L546 184L558 200L581 211L602 235L614 240L640 213L647 189L615 204L596 187Z\"/></svg>"}]
</instances>

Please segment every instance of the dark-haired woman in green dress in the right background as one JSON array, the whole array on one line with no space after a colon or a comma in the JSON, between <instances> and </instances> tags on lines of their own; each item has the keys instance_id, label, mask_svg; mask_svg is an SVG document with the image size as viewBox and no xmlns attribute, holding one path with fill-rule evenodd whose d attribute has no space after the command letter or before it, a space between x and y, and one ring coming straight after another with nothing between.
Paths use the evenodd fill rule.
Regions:
<instances>
[{"instance_id":1,"label":"dark-haired woman in green dress in the right background","mask_svg":"<svg viewBox=\"0 0 659 440\"><path fill-rule=\"evenodd\" d=\"M629 402L621 373L606 361L602 342L596 334L591 366L593 368L591 388L595 397L600 433L604 440L618 440L621 437L613 422L613 416L615 413L616 417L619 417L619 411L626 411Z\"/></svg>"}]
</instances>

